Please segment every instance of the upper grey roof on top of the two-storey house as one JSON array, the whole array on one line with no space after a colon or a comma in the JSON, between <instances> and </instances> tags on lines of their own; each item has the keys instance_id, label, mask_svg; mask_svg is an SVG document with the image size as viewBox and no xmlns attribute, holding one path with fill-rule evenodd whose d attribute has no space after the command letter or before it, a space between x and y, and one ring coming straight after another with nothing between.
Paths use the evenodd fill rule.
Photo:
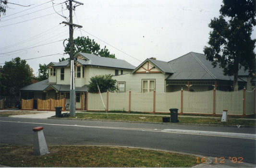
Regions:
<instances>
[{"instance_id":1,"label":"upper grey roof on top of the two-storey house","mask_svg":"<svg viewBox=\"0 0 256 168\"><path fill-rule=\"evenodd\" d=\"M85 57L85 60L78 59L77 62L82 64L83 66L99 66L99 67L109 67L109 68L118 68L118 69L129 69L134 70L136 67L132 64L128 63L125 60L120 59L112 59L112 58L106 58L106 57L99 57L94 54L87 54L83 52L79 52L75 55L81 55ZM69 60L64 60L61 62L51 62L54 65L52 67L66 67L69 65Z\"/></svg>"}]
</instances>

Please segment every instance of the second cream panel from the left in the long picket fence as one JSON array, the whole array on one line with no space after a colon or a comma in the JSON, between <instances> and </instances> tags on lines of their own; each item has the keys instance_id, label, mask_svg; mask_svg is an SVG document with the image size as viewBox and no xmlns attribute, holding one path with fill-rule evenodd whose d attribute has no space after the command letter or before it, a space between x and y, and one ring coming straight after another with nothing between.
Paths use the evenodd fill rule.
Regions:
<instances>
[{"instance_id":1,"label":"second cream panel from the left in the long picket fence","mask_svg":"<svg viewBox=\"0 0 256 168\"><path fill-rule=\"evenodd\" d=\"M109 110L129 110L129 92L109 93Z\"/></svg>"}]
</instances>

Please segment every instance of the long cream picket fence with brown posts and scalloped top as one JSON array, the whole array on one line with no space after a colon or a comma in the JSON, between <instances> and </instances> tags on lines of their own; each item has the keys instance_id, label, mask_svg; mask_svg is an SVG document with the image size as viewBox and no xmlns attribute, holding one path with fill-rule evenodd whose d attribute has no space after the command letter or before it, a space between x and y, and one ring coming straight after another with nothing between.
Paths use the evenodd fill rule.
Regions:
<instances>
[{"instance_id":1,"label":"long cream picket fence with brown posts and scalloped top","mask_svg":"<svg viewBox=\"0 0 256 168\"><path fill-rule=\"evenodd\" d=\"M256 113L256 90L245 89L224 92L210 90L205 92L150 92L150 93L103 93L87 92L86 110L122 110L149 113L169 113L170 108L178 108L179 114L203 114L221 116L228 110L229 116L248 116ZM102 103L104 102L104 105Z\"/></svg>"}]
</instances>

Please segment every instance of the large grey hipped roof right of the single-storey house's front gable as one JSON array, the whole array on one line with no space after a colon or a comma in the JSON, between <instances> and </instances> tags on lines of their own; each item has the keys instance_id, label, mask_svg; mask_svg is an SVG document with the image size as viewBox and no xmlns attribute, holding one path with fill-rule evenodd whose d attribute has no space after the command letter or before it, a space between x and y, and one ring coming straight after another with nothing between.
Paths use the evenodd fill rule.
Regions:
<instances>
[{"instance_id":1,"label":"large grey hipped roof right of the single-storey house's front gable","mask_svg":"<svg viewBox=\"0 0 256 168\"><path fill-rule=\"evenodd\" d=\"M219 65L213 68L204 54L190 52L169 61L169 64L174 73L166 80L233 80L232 76L223 74L223 69L219 68Z\"/></svg>"}]
</instances>

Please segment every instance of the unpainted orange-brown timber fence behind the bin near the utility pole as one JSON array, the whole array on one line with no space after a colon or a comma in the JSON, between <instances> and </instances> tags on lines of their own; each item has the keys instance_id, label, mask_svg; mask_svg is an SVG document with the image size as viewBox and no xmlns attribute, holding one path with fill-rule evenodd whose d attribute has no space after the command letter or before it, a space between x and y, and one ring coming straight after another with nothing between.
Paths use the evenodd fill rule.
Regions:
<instances>
[{"instance_id":1,"label":"unpainted orange-brown timber fence behind the bin near the utility pole","mask_svg":"<svg viewBox=\"0 0 256 168\"><path fill-rule=\"evenodd\" d=\"M65 111L66 99L61 100L48 99L41 100L37 99L37 111L55 111L55 107L62 107L62 111Z\"/></svg>"}]
</instances>

